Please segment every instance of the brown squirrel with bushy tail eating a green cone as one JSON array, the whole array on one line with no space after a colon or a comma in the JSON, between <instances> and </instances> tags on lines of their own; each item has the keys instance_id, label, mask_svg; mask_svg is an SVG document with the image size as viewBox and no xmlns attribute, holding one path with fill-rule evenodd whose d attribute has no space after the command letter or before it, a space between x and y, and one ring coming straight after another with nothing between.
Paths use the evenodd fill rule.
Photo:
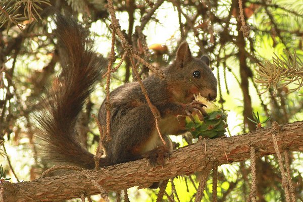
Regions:
<instances>
[{"instance_id":1,"label":"brown squirrel with bushy tail eating a green cone","mask_svg":"<svg viewBox=\"0 0 303 202\"><path fill-rule=\"evenodd\" d=\"M62 73L41 102L35 114L38 142L45 158L58 163L93 169L93 155L76 140L75 123L95 83L105 73L107 61L93 52L88 32L74 19L57 14L55 19L58 47L62 48ZM186 42L181 43L174 62L163 69L165 79L151 75L143 80L151 103L160 112L160 130L138 82L126 83L110 94L111 140L103 142L106 156L100 166L114 165L148 157L158 161L172 150L168 135L185 132L185 116L194 111L204 113L203 105L192 102L193 94L213 100L217 80L209 68L210 60L193 58ZM106 125L106 104L98 115ZM147 154L147 155L146 155ZM159 163L159 162L158 162Z\"/></svg>"}]
</instances>

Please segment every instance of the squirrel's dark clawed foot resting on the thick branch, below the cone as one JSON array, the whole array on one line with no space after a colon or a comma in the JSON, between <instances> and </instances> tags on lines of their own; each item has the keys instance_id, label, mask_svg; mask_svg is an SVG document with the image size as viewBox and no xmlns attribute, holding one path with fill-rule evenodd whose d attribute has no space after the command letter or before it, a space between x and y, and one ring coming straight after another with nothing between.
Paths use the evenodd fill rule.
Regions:
<instances>
[{"instance_id":1,"label":"squirrel's dark clawed foot resting on the thick branch, below the cone","mask_svg":"<svg viewBox=\"0 0 303 202\"><path fill-rule=\"evenodd\" d=\"M153 150L148 151L144 155L149 160L149 164L153 167L157 165L162 165L162 167L165 164L165 160L169 159L169 148L165 145L157 146Z\"/></svg>"}]
</instances>

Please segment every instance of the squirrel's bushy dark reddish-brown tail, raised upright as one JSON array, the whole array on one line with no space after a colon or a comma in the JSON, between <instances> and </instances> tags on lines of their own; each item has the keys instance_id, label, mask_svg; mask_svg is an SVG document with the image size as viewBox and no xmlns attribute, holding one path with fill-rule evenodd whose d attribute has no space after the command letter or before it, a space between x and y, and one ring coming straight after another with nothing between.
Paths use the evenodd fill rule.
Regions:
<instances>
[{"instance_id":1,"label":"squirrel's bushy dark reddish-brown tail, raised upright","mask_svg":"<svg viewBox=\"0 0 303 202\"><path fill-rule=\"evenodd\" d=\"M34 114L37 142L45 160L91 169L93 155L76 140L75 124L107 61L94 53L88 31L75 19L57 14L55 22L62 72Z\"/></svg>"}]
</instances>

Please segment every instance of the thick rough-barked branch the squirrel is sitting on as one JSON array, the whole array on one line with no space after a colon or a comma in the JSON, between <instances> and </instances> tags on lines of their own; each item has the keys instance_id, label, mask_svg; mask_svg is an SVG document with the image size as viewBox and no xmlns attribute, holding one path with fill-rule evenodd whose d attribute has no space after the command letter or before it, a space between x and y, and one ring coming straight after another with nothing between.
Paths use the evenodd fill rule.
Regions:
<instances>
[{"instance_id":1,"label":"thick rough-barked branch the squirrel is sitting on","mask_svg":"<svg viewBox=\"0 0 303 202\"><path fill-rule=\"evenodd\" d=\"M91 180L107 191L133 186L144 188L156 181L203 171L214 162L222 165L247 160L250 146L256 148L256 157L274 154L272 132L269 128L233 137L203 139L174 151L163 168L150 168L147 160L143 159L98 171L83 170L69 175L41 177L31 182L2 182L0 193L4 201L58 201L80 197L81 193L98 194L99 189ZM286 124L275 134L280 149L303 151L303 121ZM2 197L0 195L0 199Z\"/></svg>"}]
</instances>

